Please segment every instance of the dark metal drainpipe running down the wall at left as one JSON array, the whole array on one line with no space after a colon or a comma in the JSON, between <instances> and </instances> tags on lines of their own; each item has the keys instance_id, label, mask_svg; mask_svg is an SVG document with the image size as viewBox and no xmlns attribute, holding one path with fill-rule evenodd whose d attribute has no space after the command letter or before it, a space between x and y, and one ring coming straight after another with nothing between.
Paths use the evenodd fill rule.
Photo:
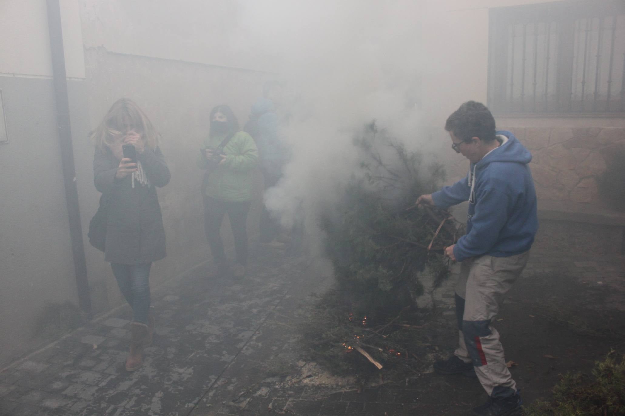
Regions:
<instances>
[{"instance_id":1,"label":"dark metal drainpipe running down the wall at left","mask_svg":"<svg viewBox=\"0 0 625 416\"><path fill-rule=\"evenodd\" d=\"M63 164L65 199L68 205L69 235L74 257L78 304L83 312L91 318L91 297L89 297L87 262L84 256L83 227L80 221L74 150L72 146L71 124L69 122L68 82L65 72L65 53L63 50L63 29L61 28L59 0L47 0L47 26L50 32L56 123L59 132L59 144L61 145L61 163Z\"/></svg>"}]
</instances>

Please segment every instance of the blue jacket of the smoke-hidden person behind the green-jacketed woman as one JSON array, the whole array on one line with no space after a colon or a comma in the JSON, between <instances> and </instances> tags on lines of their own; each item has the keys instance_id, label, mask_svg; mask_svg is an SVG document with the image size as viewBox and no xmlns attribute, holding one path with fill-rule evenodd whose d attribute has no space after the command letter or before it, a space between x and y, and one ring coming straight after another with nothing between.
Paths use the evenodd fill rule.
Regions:
<instances>
[{"instance_id":1,"label":"blue jacket of the smoke-hidden person behind the green-jacketed woman","mask_svg":"<svg viewBox=\"0 0 625 416\"><path fill-rule=\"evenodd\" d=\"M261 97L252 105L250 118L257 119L257 133L254 135L260 156L261 166L279 169L286 162L288 155L284 143L279 137L279 121L271 100Z\"/></svg>"}]
</instances>

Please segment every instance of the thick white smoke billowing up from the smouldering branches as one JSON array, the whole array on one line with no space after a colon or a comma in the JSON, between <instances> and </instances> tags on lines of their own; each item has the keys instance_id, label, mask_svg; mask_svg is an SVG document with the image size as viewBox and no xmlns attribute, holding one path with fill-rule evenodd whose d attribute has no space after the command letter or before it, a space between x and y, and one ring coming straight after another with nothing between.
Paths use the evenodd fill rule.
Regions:
<instances>
[{"instance_id":1,"label":"thick white smoke billowing up from the smouldering branches","mask_svg":"<svg viewBox=\"0 0 625 416\"><path fill-rule=\"evenodd\" d=\"M376 120L409 149L419 131L421 1L240 1L239 49L286 82L291 115L282 133L292 149L284 180L267 206L291 225L304 213L315 232L326 209L357 171L354 132ZM288 94L291 92L291 95ZM302 211L303 208L303 211Z\"/></svg>"}]
</instances>

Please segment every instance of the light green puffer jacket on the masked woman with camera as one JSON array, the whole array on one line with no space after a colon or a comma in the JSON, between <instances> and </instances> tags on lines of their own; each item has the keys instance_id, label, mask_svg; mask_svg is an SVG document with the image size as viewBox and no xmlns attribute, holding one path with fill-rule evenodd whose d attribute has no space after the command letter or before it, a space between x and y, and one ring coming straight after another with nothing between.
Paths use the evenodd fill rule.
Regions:
<instances>
[{"instance_id":1,"label":"light green puffer jacket on the masked woman with camera","mask_svg":"<svg viewBox=\"0 0 625 416\"><path fill-rule=\"evenodd\" d=\"M202 149L216 148L225 135L206 137ZM246 132L237 132L224 147L226 160L208 174L206 195L220 201L244 202L252 199L252 170L258 163L254 139ZM197 167L206 169L209 163L204 155L197 158Z\"/></svg>"}]
</instances>

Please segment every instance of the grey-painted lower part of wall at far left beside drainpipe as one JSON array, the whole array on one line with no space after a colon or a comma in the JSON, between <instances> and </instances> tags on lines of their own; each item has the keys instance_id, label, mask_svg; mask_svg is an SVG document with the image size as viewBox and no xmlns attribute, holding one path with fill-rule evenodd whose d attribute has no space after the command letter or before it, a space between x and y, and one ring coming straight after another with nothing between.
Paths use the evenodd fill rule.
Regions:
<instances>
[{"instance_id":1,"label":"grey-painted lower part of wall at far left beside drainpipe","mask_svg":"<svg viewBox=\"0 0 625 416\"><path fill-rule=\"evenodd\" d=\"M84 137L86 84L68 88L73 131ZM0 77L0 89L9 137L0 145L2 363L31 349L51 315L71 315L78 301L53 81Z\"/></svg>"}]
</instances>

